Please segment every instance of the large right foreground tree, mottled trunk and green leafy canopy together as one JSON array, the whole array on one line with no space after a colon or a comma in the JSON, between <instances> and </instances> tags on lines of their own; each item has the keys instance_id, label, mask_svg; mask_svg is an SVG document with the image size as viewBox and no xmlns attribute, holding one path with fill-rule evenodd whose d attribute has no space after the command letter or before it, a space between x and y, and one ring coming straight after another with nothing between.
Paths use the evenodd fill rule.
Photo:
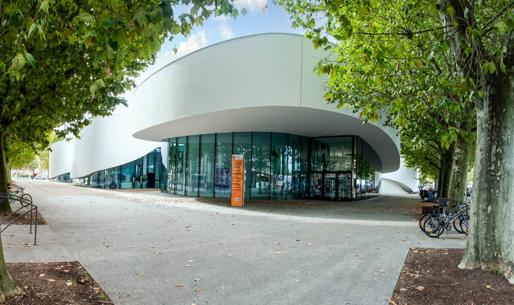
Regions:
<instances>
[{"instance_id":1,"label":"large right foreground tree, mottled trunk and green leafy canopy together","mask_svg":"<svg viewBox=\"0 0 514 305\"><path fill-rule=\"evenodd\" d=\"M315 46L337 41L339 56L319 71L330 76L327 100L371 93L382 85L400 105L439 105L450 112L476 113L476 150L470 234L460 268L499 269L514 283L514 2L277 0L293 26L309 29ZM317 24L317 17L319 22ZM396 65L396 70L392 70ZM352 81L353 69L364 78ZM366 73L368 71L376 73ZM375 76L375 77L373 77ZM402 82L403 80L403 82ZM406 83L410 86L405 86ZM355 86L361 81L361 86ZM350 82L346 85L345 82ZM377 105L363 113L376 119ZM375 97L379 97L376 94ZM340 100L338 100L339 102ZM351 103L355 104L354 101ZM421 110L422 111L422 110ZM397 116L402 125L402 116ZM467 129L466 120L462 121ZM442 137L447 146L452 130ZM469 134L472 128L465 132ZM456 144L457 145L457 144Z\"/></svg>"}]
</instances>

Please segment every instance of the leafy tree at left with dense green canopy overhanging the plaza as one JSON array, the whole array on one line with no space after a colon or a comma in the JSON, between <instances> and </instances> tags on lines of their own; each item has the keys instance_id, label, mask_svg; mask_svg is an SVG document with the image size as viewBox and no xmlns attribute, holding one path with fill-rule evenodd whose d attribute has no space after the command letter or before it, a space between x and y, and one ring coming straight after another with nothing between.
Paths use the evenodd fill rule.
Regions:
<instances>
[{"instance_id":1,"label":"leafy tree at left with dense green canopy overhanging the plaza","mask_svg":"<svg viewBox=\"0 0 514 305\"><path fill-rule=\"evenodd\" d=\"M174 15L179 5L189 12ZM228 0L0 2L0 192L7 142L48 147L57 127L59 136L78 137L92 117L126 105L120 94L136 86L164 40L188 35L212 14L238 11ZM15 293L1 256L0 301Z\"/></svg>"}]
</instances>

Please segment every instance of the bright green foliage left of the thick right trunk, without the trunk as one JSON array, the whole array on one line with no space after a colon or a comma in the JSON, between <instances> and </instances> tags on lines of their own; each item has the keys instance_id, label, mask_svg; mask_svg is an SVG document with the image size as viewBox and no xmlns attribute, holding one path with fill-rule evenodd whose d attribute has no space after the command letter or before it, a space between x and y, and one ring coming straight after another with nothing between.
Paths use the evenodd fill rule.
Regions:
<instances>
[{"instance_id":1,"label":"bright green foliage left of the thick right trunk, without the trunk","mask_svg":"<svg viewBox=\"0 0 514 305\"><path fill-rule=\"evenodd\" d=\"M474 82L458 73L434 2L276 0L315 48L333 52L316 70L325 98L365 121L384 119L448 148L457 135L474 141ZM451 11L451 10L450 10ZM328 37L336 42L331 44ZM494 64L492 65L494 66ZM492 66L488 66L489 71ZM469 105L471 104L471 105ZM429 128L429 129L427 129ZM423 135L430 130L430 135Z\"/></svg>"}]
</instances>

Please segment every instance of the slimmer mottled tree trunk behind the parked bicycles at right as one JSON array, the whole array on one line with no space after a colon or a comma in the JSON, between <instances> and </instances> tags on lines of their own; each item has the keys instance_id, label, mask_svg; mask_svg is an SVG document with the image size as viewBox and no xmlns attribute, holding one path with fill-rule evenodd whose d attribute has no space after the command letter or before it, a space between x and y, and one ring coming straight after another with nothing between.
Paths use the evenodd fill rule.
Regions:
<instances>
[{"instance_id":1,"label":"slimmer mottled tree trunk behind the parked bicycles at right","mask_svg":"<svg viewBox=\"0 0 514 305\"><path fill-rule=\"evenodd\" d=\"M470 150L471 143L466 141L462 136L457 136L455 149L453 150L448 198L466 202Z\"/></svg>"}]
</instances>

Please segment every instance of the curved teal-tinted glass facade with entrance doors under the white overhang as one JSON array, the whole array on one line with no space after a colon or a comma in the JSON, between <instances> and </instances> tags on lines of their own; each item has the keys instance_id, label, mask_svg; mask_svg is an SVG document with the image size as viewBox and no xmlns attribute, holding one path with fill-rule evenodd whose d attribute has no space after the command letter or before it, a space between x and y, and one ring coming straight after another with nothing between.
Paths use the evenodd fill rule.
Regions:
<instances>
[{"instance_id":1,"label":"curved teal-tinted glass facade with entrance doors under the white overhang","mask_svg":"<svg viewBox=\"0 0 514 305\"><path fill-rule=\"evenodd\" d=\"M357 136L226 132L170 138L162 147L168 167L161 167L167 177L161 189L168 194L229 198L232 154L244 155L247 199L350 201L379 194L380 159Z\"/></svg>"}]
</instances>

